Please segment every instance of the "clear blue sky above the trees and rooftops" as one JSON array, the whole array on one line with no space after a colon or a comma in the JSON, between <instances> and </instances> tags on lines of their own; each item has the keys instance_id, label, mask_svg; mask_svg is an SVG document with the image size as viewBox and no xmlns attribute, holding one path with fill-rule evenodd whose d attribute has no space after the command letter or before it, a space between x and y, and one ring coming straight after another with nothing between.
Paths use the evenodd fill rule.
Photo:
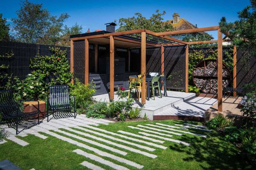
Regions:
<instances>
[{"instance_id":1,"label":"clear blue sky above the trees and rooftops","mask_svg":"<svg viewBox=\"0 0 256 170\"><path fill-rule=\"evenodd\" d=\"M67 12L70 18L65 22L67 26L78 23L83 32L90 28L105 30L105 23L113 22L121 17L132 17L140 12L145 17L159 9L165 10L164 20L172 20L174 12L179 13L190 23L197 24L199 28L218 26L222 16L228 21L237 20L237 12L250 5L250 0L30 0L33 3L43 3L52 15L59 16ZM19 0L1 0L0 13L7 18L17 17ZM216 32L209 32L216 37Z\"/></svg>"}]
</instances>

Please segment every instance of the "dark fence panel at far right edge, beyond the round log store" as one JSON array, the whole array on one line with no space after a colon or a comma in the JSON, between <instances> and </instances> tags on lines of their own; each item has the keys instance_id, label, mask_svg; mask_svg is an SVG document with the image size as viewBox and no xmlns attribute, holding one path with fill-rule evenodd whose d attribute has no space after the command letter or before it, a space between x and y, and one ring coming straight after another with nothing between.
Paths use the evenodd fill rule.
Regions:
<instances>
[{"instance_id":1,"label":"dark fence panel at far right edge, beyond the round log store","mask_svg":"<svg viewBox=\"0 0 256 170\"><path fill-rule=\"evenodd\" d=\"M256 82L256 56L251 56L250 54L250 51L237 50L237 88L242 88L250 82Z\"/></svg>"}]
</instances>

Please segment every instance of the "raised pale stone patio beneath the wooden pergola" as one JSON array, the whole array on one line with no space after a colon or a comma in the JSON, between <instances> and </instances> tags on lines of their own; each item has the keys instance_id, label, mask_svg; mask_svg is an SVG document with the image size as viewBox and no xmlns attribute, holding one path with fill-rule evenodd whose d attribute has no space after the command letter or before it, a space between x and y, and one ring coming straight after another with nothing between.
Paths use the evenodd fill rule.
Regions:
<instances>
[{"instance_id":1,"label":"raised pale stone patio beneath the wooden pergola","mask_svg":"<svg viewBox=\"0 0 256 170\"><path fill-rule=\"evenodd\" d=\"M109 94L93 96L93 99L97 102L110 101ZM118 100L117 94L114 94L114 100ZM155 97L155 100L150 98L145 105L142 105L137 98L134 98L134 101L132 107L142 108L141 116L146 113L150 120L186 119L204 121L204 111L212 107L217 99L198 97L195 93L167 91L167 96Z\"/></svg>"}]
</instances>

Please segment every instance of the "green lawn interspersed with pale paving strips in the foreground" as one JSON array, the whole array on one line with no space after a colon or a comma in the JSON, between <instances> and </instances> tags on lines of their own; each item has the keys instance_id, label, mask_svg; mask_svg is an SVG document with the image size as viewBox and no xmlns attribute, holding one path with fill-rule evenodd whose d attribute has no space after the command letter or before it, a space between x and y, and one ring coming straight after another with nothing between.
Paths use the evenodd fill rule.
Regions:
<instances>
[{"instance_id":1,"label":"green lawn interspersed with pale paving strips in the foreground","mask_svg":"<svg viewBox=\"0 0 256 170\"><path fill-rule=\"evenodd\" d=\"M183 121L173 121L173 120L138 121L138 122L117 122L117 123L112 123L110 125L99 125L98 127L108 131L113 131L115 133L117 133L118 130L123 130L131 133L139 134L138 132L140 130L131 129L131 128L128 128L127 126L137 126L138 124L143 125L148 123L155 124L156 122L168 124L168 125L183 123ZM197 122L192 122L192 123L197 124ZM181 136L173 135L172 139L188 142L191 145L186 146L183 144L177 144L174 142L165 141L163 144L160 144L160 143L157 143L157 144L168 147L166 150L152 147L152 148L155 148L156 150L153 152L150 152L147 150L137 148L139 150L147 151L148 153L157 155L157 158L155 159L143 156L139 153L133 153L128 150L124 150L122 148L118 148L113 145L106 144L104 142L96 141L95 139L91 139L91 140L94 140L96 142L108 145L110 147L115 147L116 149L127 152L128 154L126 156L122 156L121 154L114 153L105 148L97 147L99 150L128 159L130 161L134 161L138 164L141 164L144 166L143 170L252 169L252 167L244 164L244 161L239 156L238 150L236 149L236 147L230 142L226 142L223 139L223 137L220 136L217 132L215 131L203 132L201 130L192 130L192 129L190 129L189 131L200 133L200 134L206 134L207 138L194 136L190 134L184 134ZM58 132L55 132L55 133L58 133ZM70 133L73 133L73 132L70 132ZM161 132L161 133L164 133L164 132ZM35 170L84 170L86 169L86 167L80 165L80 163L83 161L88 161L90 163L96 164L106 170L111 169L111 167L108 167L107 165L100 164L97 161L93 161L91 159L85 158L84 156L78 155L77 153L72 152L73 150L81 149L86 151L87 153L93 153L94 155L97 155L93 151L84 149L82 147L78 147L68 142L64 142L53 136L49 136L46 133L41 133L41 134L48 136L48 138L41 139L33 135L28 135L25 137L18 136L18 138L29 143L29 145L25 147L22 147L6 139L8 140L8 142L4 144L0 144L0 161L4 159L9 159L13 163L15 163L17 166L21 167L23 170L30 170L32 168L35 168ZM61 133L58 133L58 134L61 134ZM89 134L92 134L92 133L89 133ZM81 136L79 134L76 134L76 135ZM95 134L93 135L97 136ZM65 136L65 135L61 134L61 136ZM98 137L104 138L102 136L98 136ZM118 136L114 136L114 137L120 138ZM75 139L72 137L69 137L69 138L76 140L78 142L87 144L91 147L96 147L93 144L83 142L79 139ZM154 138L154 137L151 137L151 138ZM90 139L90 138L87 138L87 139ZM107 139L107 138L104 138L104 139ZM107 140L116 142L111 139L107 139ZM129 141L128 139L125 139L125 140ZM142 139L142 140L146 141L145 139ZM163 140L163 139L159 139L159 140ZM130 142L133 142L133 141L130 141ZM116 142L116 143L124 144L121 142ZM134 143L148 146L147 144L143 144L143 143L138 143L138 142L134 142ZM124 145L129 146L128 144L124 144ZM134 147L134 146L130 146L130 147ZM148 146L148 147L151 147L151 146ZM128 169L136 170L135 167L132 167L124 163L120 163L108 157L105 157L105 156L100 156L100 157L102 157L105 160L111 161L115 164L119 164L124 167L127 167Z\"/></svg>"}]
</instances>

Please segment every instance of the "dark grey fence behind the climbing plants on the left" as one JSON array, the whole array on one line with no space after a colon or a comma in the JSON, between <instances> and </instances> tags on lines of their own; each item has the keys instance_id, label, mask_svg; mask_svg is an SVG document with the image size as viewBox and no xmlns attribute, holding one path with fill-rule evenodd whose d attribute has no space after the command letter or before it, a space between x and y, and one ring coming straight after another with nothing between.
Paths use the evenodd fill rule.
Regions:
<instances>
[{"instance_id":1,"label":"dark grey fence behind the climbing plants on the left","mask_svg":"<svg viewBox=\"0 0 256 170\"><path fill-rule=\"evenodd\" d=\"M0 58L0 65L9 65L9 69L6 70L12 76L16 76L20 79L24 79L27 74L31 73L31 68L29 68L30 59L36 57L37 54L40 55L52 55L49 51L49 47L52 45L40 45L40 44L29 44L22 42L12 42L12 41L0 41L0 55L6 56L6 53L13 52L14 57ZM58 46L57 46L58 47ZM61 50L67 50L67 59L70 63L70 47L59 47ZM5 72L1 70L1 72Z\"/></svg>"}]
</instances>

